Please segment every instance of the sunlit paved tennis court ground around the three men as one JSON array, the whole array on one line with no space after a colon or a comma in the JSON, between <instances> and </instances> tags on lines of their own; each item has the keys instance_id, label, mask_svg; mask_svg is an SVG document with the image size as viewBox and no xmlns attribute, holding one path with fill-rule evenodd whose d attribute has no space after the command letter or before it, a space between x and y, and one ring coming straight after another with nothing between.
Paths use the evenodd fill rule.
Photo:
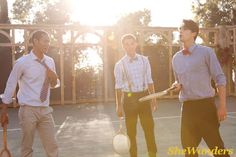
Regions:
<instances>
[{"instance_id":1,"label":"sunlit paved tennis court ground around the three men","mask_svg":"<svg viewBox=\"0 0 236 157\"><path fill-rule=\"evenodd\" d=\"M221 133L227 148L236 157L236 98L228 98L228 119L221 125ZM60 147L60 157L120 157L112 148L112 137L119 122L114 103L53 106L55 132ZM18 125L17 108L10 109L8 145L13 157L19 157L21 130ZM180 145L180 103L176 99L160 100L155 117L156 142L159 157L181 157L169 155L170 148L181 149ZM2 130L0 130L2 134ZM139 157L146 157L146 144L138 125ZM2 141L2 136L0 136ZM2 143L0 143L2 148ZM200 148L207 148L202 141ZM34 157L45 157L36 135ZM200 157L207 156L202 155ZM125 157L128 157L126 155Z\"/></svg>"}]
</instances>

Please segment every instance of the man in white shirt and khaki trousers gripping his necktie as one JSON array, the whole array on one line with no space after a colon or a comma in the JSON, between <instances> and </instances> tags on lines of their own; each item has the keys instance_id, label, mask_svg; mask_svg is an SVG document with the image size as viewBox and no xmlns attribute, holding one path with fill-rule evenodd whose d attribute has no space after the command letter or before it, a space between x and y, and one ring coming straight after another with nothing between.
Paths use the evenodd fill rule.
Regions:
<instances>
[{"instance_id":1,"label":"man in white shirt and khaki trousers gripping his necktie","mask_svg":"<svg viewBox=\"0 0 236 157\"><path fill-rule=\"evenodd\" d=\"M49 106L50 88L59 86L54 60L46 53L50 46L49 34L37 30L32 36L33 49L19 58L8 78L3 94L1 125L8 124L8 104L12 102L17 84L20 105L18 117L22 131L20 157L33 156L35 132L38 131L47 157L58 157L54 133L53 109Z\"/></svg>"}]
</instances>

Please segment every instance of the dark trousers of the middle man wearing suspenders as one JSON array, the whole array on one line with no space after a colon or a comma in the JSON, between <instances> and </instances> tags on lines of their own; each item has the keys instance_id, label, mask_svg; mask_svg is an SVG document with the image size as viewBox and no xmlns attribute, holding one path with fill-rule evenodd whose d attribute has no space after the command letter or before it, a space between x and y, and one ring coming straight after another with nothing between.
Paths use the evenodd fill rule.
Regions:
<instances>
[{"instance_id":1,"label":"dark trousers of the middle man wearing suspenders","mask_svg":"<svg viewBox=\"0 0 236 157\"><path fill-rule=\"evenodd\" d=\"M138 117L144 131L148 154L150 157L156 157L157 148L154 135L154 121L150 103L147 101L140 103L138 101L138 99L144 95L147 95L147 93L125 93L124 96L125 122L127 134L131 142L131 157L137 157L136 128Z\"/></svg>"}]
</instances>

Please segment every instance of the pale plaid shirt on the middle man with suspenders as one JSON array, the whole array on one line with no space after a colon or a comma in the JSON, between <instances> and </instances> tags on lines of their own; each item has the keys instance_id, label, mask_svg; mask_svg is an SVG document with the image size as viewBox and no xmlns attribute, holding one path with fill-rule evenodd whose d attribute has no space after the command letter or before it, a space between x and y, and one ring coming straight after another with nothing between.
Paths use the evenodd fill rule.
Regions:
<instances>
[{"instance_id":1,"label":"pale plaid shirt on the middle man with suspenders","mask_svg":"<svg viewBox=\"0 0 236 157\"><path fill-rule=\"evenodd\" d=\"M114 69L115 89L123 92L141 92L152 84L151 67L147 57L136 54L134 59L125 55Z\"/></svg>"}]
</instances>

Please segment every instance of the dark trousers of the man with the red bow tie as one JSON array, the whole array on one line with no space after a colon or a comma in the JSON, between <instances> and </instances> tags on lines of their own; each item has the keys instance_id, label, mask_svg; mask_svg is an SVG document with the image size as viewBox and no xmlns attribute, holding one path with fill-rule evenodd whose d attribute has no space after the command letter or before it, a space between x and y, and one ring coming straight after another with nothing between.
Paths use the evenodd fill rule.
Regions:
<instances>
[{"instance_id":1,"label":"dark trousers of the man with the red bow tie","mask_svg":"<svg viewBox=\"0 0 236 157\"><path fill-rule=\"evenodd\" d=\"M182 106L181 142L183 149L188 150L185 157L198 157L195 150L197 150L202 138L215 157L229 157L221 139L219 127L214 98L184 102Z\"/></svg>"}]
</instances>

